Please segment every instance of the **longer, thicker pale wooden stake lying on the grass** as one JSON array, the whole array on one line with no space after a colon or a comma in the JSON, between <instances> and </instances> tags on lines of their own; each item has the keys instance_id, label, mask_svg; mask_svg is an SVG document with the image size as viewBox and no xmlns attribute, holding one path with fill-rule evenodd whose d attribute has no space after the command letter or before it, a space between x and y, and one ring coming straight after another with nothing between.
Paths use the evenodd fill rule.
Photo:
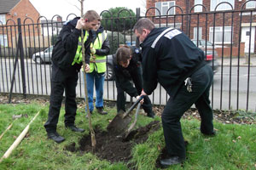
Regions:
<instances>
[{"instance_id":1,"label":"longer, thicker pale wooden stake lying on the grass","mask_svg":"<svg viewBox=\"0 0 256 170\"><path fill-rule=\"evenodd\" d=\"M30 124L37 118L37 116L39 115L40 111L38 111L37 115L34 116L31 120L31 122L29 122L27 124L27 126L25 127L25 129L22 131L22 133L20 133L19 137L17 139L15 139L15 142L9 147L9 149L4 153L3 157L1 158L0 162L3 161L4 158L8 158L9 155L12 153L13 150L15 150L15 148L20 144L20 141L22 139L24 139L24 137L26 136L26 133L29 130Z\"/></svg>"}]
</instances>

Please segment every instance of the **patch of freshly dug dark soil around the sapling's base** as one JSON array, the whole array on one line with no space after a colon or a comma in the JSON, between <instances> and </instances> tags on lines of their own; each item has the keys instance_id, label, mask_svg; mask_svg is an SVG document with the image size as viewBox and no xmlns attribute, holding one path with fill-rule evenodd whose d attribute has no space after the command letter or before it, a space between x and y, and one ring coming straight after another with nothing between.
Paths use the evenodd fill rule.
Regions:
<instances>
[{"instance_id":1,"label":"patch of freshly dug dark soil around the sapling's base","mask_svg":"<svg viewBox=\"0 0 256 170\"><path fill-rule=\"evenodd\" d=\"M131 149L134 144L141 144L148 139L148 134L160 128L160 122L150 122L145 127L139 127L129 134L126 139L119 138L111 132L104 132L96 128L96 150L91 146L90 134L85 135L79 141L79 146L75 143L68 144L66 150L76 152L92 152L100 159L110 162L131 160Z\"/></svg>"}]
</instances>

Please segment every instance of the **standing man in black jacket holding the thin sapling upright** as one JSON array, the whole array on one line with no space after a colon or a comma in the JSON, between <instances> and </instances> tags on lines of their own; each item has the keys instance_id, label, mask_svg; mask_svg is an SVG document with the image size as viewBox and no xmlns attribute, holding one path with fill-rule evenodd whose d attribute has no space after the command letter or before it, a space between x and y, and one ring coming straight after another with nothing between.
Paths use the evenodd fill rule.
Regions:
<instances>
[{"instance_id":1,"label":"standing man in black jacket holding the thin sapling upright","mask_svg":"<svg viewBox=\"0 0 256 170\"><path fill-rule=\"evenodd\" d=\"M49 102L48 121L44 127L49 139L61 143L65 139L56 132L59 120L61 102L65 90L65 126L74 132L84 132L84 129L74 125L77 111L76 86L79 79L79 70L82 65L81 49L84 44L85 53L90 54L91 34L84 37L81 42L81 30L90 31L97 26L100 16L96 11L90 10L83 18L68 21L62 27L52 53L52 80ZM90 59L85 59L85 71L90 71Z\"/></svg>"}]
</instances>

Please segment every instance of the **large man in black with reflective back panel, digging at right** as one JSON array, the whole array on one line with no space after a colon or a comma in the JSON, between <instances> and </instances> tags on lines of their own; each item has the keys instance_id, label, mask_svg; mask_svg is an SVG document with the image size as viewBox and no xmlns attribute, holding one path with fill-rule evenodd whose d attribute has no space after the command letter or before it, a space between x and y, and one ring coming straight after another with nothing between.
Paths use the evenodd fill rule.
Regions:
<instances>
[{"instance_id":1,"label":"large man in black with reflective back panel, digging at right","mask_svg":"<svg viewBox=\"0 0 256 170\"><path fill-rule=\"evenodd\" d=\"M212 69L205 56L182 31L154 28L148 19L134 26L143 55L143 93L151 94L160 84L170 99L162 113L162 124L168 157L160 160L163 167L185 160L185 144L180 119L195 104L201 116L201 133L214 135L209 90Z\"/></svg>"}]
</instances>

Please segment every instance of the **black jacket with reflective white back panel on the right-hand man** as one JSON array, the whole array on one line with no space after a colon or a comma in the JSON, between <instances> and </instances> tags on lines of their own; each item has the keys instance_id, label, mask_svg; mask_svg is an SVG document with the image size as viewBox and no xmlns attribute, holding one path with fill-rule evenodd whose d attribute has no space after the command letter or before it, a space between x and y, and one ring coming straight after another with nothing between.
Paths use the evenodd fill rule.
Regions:
<instances>
[{"instance_id":1,"label":"black jacket with reflective white back panel on the right-hand man","mask_svg":"<svg viewBox=\"0 0 256 170\"><path fill-rule=\"evenodd\" d=\"M167 29L154 28L141 44L143 90L148 95L160 82L175 97L184 80L205 65L203 51L189 37L177 29Z\"/></svg>"}]
</instances>

